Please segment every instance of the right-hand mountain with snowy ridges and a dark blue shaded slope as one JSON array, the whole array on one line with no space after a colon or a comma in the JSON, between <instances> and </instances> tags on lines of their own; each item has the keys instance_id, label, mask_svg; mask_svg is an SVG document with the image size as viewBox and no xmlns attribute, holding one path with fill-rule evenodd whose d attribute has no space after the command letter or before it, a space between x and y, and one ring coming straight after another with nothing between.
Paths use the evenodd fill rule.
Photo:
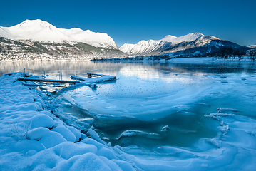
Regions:
<instances>
[{"instance_id":1,"label":"right-hand mountain with snowy ridges and a dark blue shaded slope","mask_svg":"<svg viewBox=\"0 0 256 171\"><path fill-rule=\"evenodd\" d=\"M130 55L161 55L166 53L196 56L198 54L214 55L216 53L245 53L249 49L230 41L224 41L215 36L205 36L202 33L189 33L185 36L165 36L159 41L140 41L137 44L124 44L120 50Z\"/></svg>"}]
</instances>

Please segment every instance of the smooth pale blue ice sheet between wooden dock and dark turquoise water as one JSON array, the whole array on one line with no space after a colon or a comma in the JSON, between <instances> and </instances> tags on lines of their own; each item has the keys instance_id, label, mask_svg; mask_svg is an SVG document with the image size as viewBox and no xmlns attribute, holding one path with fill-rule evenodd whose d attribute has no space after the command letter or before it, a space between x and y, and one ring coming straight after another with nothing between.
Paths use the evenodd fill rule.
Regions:
<instances>
[{"instance_id":1,"label":"smooth pale blue ice sheet between wooden dock and dark turquoise water","mask_svg":"<svg viewBox=\"0 0 256 171\"><path fill-rule=\"evenodd\" d=\"M95 115L152 120L168 115L164 111L195 102L213 88L217 86L213 86L211 78L201 74L193 77L181 74L160 79L120 74L114 83L98 84L97 88L84 86L63 93L63 96Z\"/></svg>"}]
</instances>

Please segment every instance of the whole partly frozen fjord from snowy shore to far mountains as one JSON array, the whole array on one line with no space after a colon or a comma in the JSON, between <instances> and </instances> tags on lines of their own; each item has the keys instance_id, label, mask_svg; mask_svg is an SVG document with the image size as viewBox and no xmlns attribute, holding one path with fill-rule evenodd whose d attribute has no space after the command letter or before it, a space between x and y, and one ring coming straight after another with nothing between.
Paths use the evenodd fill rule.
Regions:
<instances>
[{"instance_id":1,"label":"whole partly frozen fjord from snowy shore to far mountains","mask_svg":"<svg viewBox=\"0 0 256 171\"><path fill-rule=\"evenodd\" d=\"M200 60L1 62L0 75L99 73L96 87L47 88L48 108L99 142L121 146L142 170L253 170L256 63ZM57 92L57 93L56 93ZM148 167L153 165L153 167Z\"/></svg>"}]
</instances>

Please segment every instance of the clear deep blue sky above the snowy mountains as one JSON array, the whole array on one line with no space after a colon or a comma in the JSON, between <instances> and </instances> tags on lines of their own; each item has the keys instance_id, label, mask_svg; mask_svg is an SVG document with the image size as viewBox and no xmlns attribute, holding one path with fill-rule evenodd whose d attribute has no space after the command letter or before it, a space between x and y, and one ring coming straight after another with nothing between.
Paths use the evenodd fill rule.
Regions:
<instances>
[{"instance_id":1,"label":"clear deep blue sky above the snowy mountains","mask_svg":"<svg viewBox=\"0 0 256 171\"><path fill-rule=\"evenodd\" d=\"M195 32L256 43L255 0L0 1L0 26L41 19L58 28L108 33L118 46Z\"/></svg>"}]
</instances>

